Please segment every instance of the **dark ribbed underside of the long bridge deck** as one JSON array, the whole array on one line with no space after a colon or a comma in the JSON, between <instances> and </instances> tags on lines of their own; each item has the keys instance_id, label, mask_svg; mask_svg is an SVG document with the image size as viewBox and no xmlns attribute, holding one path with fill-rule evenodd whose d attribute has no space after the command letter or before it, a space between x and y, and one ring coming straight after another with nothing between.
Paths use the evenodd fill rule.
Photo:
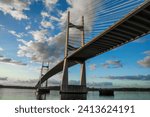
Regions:
<instances>
[{"instance_id":1,"label":"dark ribbed underside of the long bridge deck","mask_svg":"<svg viewBox=\"0 0 150 117\"><path fill-rule=\"evenodd\" d=\"M150 33L150 1L139 6L133 12L101 33L72 55L68 56L68 67L103 54L128 42ZM74 61L76 60L76 61ZM43 83L63 70L64 60L49 70L36 85Z\"/></svg>"}]
</instances>

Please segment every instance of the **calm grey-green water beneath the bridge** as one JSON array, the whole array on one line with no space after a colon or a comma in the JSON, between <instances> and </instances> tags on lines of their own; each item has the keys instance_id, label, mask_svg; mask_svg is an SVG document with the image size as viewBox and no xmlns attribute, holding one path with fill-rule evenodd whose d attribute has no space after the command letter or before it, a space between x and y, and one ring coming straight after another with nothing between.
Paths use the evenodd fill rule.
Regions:
<instances>
[{"instance_id":1,"label":"calm grey-green water beneath the bridge","mask_svg":"<svg viewBox=\"0 0 150 117\"><path fill-rule=\"evenodd\" d=\"M47 94L47 100L60 100L59 91L51 91ZM121 92L116 91L114 97L99 96L99 92L90 91L87 100L150 100L150 92ZM0 100L35 100L35 90L32 89L7 89L0 88Z\"/></svg>"}]
</instances>

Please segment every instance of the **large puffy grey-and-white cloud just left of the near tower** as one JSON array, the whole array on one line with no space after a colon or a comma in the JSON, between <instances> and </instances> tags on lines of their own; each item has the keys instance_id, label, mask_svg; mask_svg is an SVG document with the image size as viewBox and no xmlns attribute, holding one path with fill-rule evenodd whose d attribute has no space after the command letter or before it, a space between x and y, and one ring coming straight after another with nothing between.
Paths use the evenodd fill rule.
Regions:
<instances>
[{"instance_id":1,"label":"large puffy grey-and-white cloud just left of the near tower","mask_svg":"<svg viewBox=\"0 0 150 117\"><path fill-rule=\"evenodd\" d=\"M32 31L31 34L33 41L18 40L22 43L19 45L18 56L25 56L38 62L50 60L55 63L60 60L64 48L62 33L49 38L46 36L47 30Z\"/></svg>"}]
</instances>

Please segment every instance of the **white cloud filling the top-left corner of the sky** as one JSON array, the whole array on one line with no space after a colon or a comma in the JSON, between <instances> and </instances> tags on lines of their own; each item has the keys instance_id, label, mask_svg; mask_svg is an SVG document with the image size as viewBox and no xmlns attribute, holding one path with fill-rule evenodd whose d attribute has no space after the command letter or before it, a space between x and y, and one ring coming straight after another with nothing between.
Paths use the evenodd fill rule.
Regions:
<instances>
[{"instance_id":1,"label":"white cloud filling the top-left corner of the sky","mask_svg":"<svg viewBox=\"0 0 150 117\"><path fill-rule=\"evenodd\" d=\"M30 2L21 0L2 0L0 1L0 10L4 14L10 14L16 20L28 19L28 16L23 13L24 10L29 10Z\"/></svg>"}]
</instances>

